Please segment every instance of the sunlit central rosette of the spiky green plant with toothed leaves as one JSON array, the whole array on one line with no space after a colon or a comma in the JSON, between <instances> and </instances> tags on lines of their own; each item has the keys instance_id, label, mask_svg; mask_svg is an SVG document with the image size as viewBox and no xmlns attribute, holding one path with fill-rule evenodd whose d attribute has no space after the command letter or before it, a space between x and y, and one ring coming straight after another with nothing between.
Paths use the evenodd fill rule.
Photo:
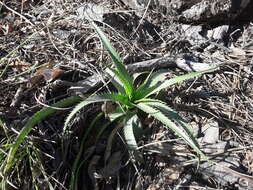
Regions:
<instances>
[{"instance_id":1,"label":"sunlit central rosette of the spiky green plant with toothed leaves","mask_svg":"<svg viewBox=\"0 0 253 190\"><path fill-rule=\"evenodd\" d=\"M173 130L199 155L203 155L199 149L196 138L192 133L191 126L187 124L175 111L169 108L166 103L158 99L154 99L152 96L173 84L200 76L203 73L210 72L211 70L193 72L170 80L166 80L166 75L168 74L166 72L151 72L142 84L136 86L134 77L128 73L121 58L110 44L105 34L95 23L92 23L92 25L112 59L114 67L109 67L106 72L109 76L111 76L112 84L117 89L117 92L93 95L84 99L82 102L77 104L68 115L65 121L64 129L67 129L69 122L73 119L75 114L85 106L98 102L111 101L116 102L118 107L112 114L110 114L110 117L112 120L118 117L122 118L121 124L123 124L122 126L126 142L130 149L137 149L137 143L133 134L133 127L136 126L136 123L140 123L138 122L139 118L137 117L137 112L141 110L153 116L155 119Z\"/></svg>"}]
</instances>

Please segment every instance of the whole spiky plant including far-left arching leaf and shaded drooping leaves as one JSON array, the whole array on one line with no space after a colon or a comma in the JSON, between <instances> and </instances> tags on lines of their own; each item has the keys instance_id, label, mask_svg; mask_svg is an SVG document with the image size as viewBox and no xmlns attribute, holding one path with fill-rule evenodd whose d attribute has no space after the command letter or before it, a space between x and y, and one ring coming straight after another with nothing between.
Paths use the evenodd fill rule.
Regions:
<instances>
[{"instance_id":1,"label":"whole spiky plant including far-left arching leaf and shaded drooping leaves","mask_svg":"<svg viewBox=\"0 0 253 190\"><path fill-rule=\"evenodd\" d=\"M197 152L198 155L204 157L192 133L191 126L187 124L175 111L169 108L164 102L157 99L153 99L152 95L159 93L159 91L166 89L173 84L200 76L203 73L211 72L213 70L193 72L190 74L175 77L170 80L167 80L166 77L168 72L152 71L148 74L144 82L140 84L140 82L137 81L139 77L134 78L133 76L130 76L130 74L127 72L125 65L123 64L119 55L112 47L102 30L95 23L92 23L92 25L95 28L97 34L99 35L104 47L111 56L113 67L108 67L105 71L110 76L111 82L117 89L117 92L92 95L85 99L82 99L80 97L70 97L54 104L53 107L60 108L67 107L70 105L76 105L65 120L64 131L66 132L68 130L68 126L71 120L75 117L76 113L79 112L81 109L85 108L86 106L99 102L115 102L117 104L117 107L113 111L110 111L110 113L108 114L108 118L111 122L117 122L117 127L115 128L115 131L118 128L123 128L129 152L131 153L131 155L134 155L136 160L141 160L139 159L140 154L137 150L138 145L134 134L134 128L140 126L139 118L137 116L138 112L140 111L145 112L159 120L165 126L174 131L176 135L184 139L185 142L189 146L191 146ZM13 168L14 163L17 161L15 158L16 153L20 148L20 145L24 142L25 138L32 130L32 128L36 124L38 124L38 122L54 114L56 111L57 110L54 108L43 108L29 119L29 121L26 123L26 125L23 127L23 129L17 136L15 143L11 145L11 148L7 155L7 159L5 160L5 167L3 170L1 169L4 175L8 174L9 171ZM93 125L94 123L91 124L90 129ZM106 124L102 128L102 130L104 130L107 126L108 124ZM85 139L87 138L87 135L89 135L88 133L89 130L87 131L85 137L82 140L80 152L73 166L73 173L77 174L77 176L81 167L80 157L83 153L83 144L85 142ZM114 135L111 135L110 141L108 141L108 149L110 149L112 145L113 136ZM76 180L77 177L72 177L70 189L76 189Z\"/></svg>"}]
</instances>

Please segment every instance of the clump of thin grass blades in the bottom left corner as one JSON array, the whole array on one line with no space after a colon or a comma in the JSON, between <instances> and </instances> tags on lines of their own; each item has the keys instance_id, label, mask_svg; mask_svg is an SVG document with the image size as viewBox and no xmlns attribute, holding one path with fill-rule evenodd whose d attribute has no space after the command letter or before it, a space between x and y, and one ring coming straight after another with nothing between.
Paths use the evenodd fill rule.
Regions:
<instances>
[{"instance_id":1,"label":"clump of thin grass blades in the bottom left corner","mask_svg":"<svg viewBox=\"0 0 253 190\"><path fill-rule=\"evenodd\" d=\"M42 189L42 186L53 190L47 172L41 160L41 151L33 144L31 140L18 147L12 162L11 170L6 172L5 168L13 144L16 142L16 134L6 127L0 120L0 189L19 189L25 186L33 186L35 189ZM41 184L41 181L44 181Z\"/></svg>"}]
</instances>

